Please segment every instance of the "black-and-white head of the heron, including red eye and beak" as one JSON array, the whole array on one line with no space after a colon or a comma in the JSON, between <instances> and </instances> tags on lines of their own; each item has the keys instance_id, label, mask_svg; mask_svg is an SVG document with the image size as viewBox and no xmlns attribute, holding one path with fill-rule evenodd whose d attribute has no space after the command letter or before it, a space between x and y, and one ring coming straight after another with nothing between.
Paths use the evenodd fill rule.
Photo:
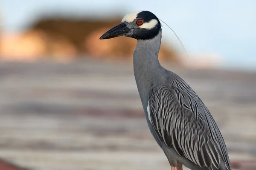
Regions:
<instances>
[{"instance_id":1,"label":"black-and-white head of the heron, including red eye and beak","mask_svg":"<svg viewBox=\"0 0 256 170\"><path fill-rule=\"evenodd\" d=\"M158 18L149 11L137 11L125 15L122 23L111 28L99 39L109 39L119 36L132 37L137 40L149 40L156 37L161 31Z\"/></svg>"}]
</instances>

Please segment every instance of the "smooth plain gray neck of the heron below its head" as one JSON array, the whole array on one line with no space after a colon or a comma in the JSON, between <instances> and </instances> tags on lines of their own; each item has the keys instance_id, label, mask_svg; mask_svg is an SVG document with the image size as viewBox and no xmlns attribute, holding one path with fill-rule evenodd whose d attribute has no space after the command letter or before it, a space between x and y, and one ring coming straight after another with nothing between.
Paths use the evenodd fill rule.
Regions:
<instances>
[{"instance_id":1,"label":"smooth plain gray neck of the heron below its head","mask_svg":"<svg viewBox=\"0 0 256 170\"><path fill-rule=\"evenodd\" d=\"M151 40L138 40L133 54L134 76L144 110L147 106L150 88L161 82L165 72L158 60L161 34L162 31Z\"/></svg>"}]
</instances>

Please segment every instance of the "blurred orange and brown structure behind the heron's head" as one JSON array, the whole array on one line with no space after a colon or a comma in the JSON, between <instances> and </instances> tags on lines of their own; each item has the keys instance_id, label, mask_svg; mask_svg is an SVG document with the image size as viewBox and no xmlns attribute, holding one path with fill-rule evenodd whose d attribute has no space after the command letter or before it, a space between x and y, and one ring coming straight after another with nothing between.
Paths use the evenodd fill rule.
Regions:
<instances>
[{"instance_id":1,"label":"blurred orange and brown structure behind the heron's head","mask_svg":"<svg viewBox=\"0 0 256 170\"><path fill-rule=\"evenodd\" d=\"M22 34L3 34L0 59L35 61L57 59L67 61L77 56L93 59L131 59L136 40L127 37L103 41L99 37L120 23L120 18L106 21L43 19ZM160 59L179 63L175 51L167 45L160 49Z\"/></svg>"}]
</instances>

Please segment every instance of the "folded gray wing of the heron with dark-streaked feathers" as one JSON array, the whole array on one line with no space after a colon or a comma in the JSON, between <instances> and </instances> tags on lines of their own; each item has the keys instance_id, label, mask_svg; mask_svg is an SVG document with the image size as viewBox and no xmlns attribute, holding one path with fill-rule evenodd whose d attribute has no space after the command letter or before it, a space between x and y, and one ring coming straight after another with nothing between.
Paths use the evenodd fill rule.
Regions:
<instances>
[{"instance_id":1,"label":"folded gray wing of the heron with dark-streaked feathers","mask_svg":"<svg viewBox=\"0 0 256 170\"><path fill-rule=\"evenodd\" d=\"M221 133L207 107L188 85L152 87L148 104L154 129L168 147L200 167L219 169L222 160L230 170Z\"/></svg>"}]
</instances>

